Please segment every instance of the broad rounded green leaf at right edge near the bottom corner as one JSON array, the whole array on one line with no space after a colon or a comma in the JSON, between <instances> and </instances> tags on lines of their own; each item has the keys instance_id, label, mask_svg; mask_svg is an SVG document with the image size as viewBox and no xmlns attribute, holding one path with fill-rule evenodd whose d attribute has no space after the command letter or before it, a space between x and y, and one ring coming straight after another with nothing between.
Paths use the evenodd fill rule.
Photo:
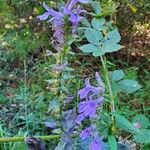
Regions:
<instances>
[{"instance_id":1,"label":"broad rounded green leaf at right edge near the bottom corner","mask_svg":"<svg viewBox=\"0 0 150 150\"><path fill-rule=\"evenodd\" d=\"M138 143L141 143L141 144L150 143L150 130L141 129L140 131L141 131L140 133L137 133L133 136L134 140Z\"/></svg>"}]
</instances>

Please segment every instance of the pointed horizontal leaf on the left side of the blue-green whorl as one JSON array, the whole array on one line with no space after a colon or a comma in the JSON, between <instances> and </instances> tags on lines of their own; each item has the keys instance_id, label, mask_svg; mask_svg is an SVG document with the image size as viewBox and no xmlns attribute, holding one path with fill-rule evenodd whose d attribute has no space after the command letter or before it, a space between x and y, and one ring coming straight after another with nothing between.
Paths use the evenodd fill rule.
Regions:
<instances>
[{"instance_id":1,"label":"pointed horizontal leaf on the left side of the blue-green whorl","mask_svg":"<svg viewBox=\"0 0 150 150\"><path fill-rule=\"evenodd\" d=\"M86 44L86 45L83 45L81 47L79 47L83 52L86 52L86 53L91 53L91 52L94 52L94 51L99 51L100 49L93 45L93 44Z\"/></svg>"}]
</instances>

